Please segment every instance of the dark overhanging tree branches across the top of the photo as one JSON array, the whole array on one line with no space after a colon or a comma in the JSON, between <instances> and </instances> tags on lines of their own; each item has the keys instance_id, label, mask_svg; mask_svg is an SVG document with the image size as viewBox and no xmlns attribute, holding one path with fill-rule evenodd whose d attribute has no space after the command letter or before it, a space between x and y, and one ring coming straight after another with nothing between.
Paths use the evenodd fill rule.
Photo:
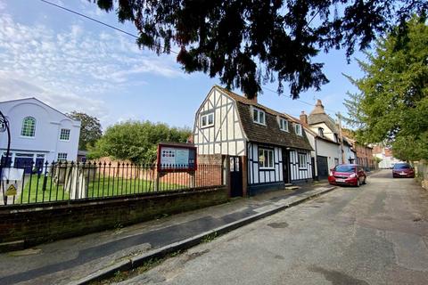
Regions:
<instances>
[{"instance_id":1,"label":"dark overhanging tree branches across the top of the photo","mask_svg":"<svg viewBox=\"0 0 428 285\"><path fill-rule=\"evenodd\" d=\"M90 1L90 0L89 0ZM94 0L95 2L95 0ZM113 0L96 0L111 12ZM227 88L240 87L249 98L261 83L288 82L292 98L328 80L320 50L356 45L365 49L376 35L404 23L414 12L424 14L425 1L408 0L121 0L120 22L132 21L137 44L158 54L177 45L177 61L186 72L219 77ZM403 35L406 29L401 29Z\"/></svg>"}]
</instances>

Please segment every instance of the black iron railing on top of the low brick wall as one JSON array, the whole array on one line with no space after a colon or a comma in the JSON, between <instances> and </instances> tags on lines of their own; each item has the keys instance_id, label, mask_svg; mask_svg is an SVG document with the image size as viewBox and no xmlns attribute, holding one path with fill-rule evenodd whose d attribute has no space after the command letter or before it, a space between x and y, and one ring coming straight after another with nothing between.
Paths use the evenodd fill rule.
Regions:
<instances>
[{"instance_id":1,"label":"black iron railing on top of the low brick wall","mask_svg":"<svg viewBox=\"0 0 428 285\"><path fill-rule=\"evenodd\" d=\"M0 206L195 190L223 184L220 165L61 161L24 165L9 161L5 165Z\"/></svg>"}]
</instances>

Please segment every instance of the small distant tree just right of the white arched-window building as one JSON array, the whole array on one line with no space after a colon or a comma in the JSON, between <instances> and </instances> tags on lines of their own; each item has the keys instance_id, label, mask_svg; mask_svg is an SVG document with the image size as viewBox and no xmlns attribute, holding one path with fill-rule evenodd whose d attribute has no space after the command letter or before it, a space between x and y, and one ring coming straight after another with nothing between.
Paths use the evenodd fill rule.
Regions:
<instances>
[{"instance_id":1,"label":"small distant tree just right of the white arched-window building","mask_svg":"<svg viewBox=\"0 0 428 285\"><path fill-rule=\"evenodd\" d=\"M78 140L78 149L87 151L88 148L95 145L103 135L100 120L98 118L87 115L83 112L73 110L67 114L70 118L78 119L81 122L80 138Z\"/></svg>"}]
</instances>

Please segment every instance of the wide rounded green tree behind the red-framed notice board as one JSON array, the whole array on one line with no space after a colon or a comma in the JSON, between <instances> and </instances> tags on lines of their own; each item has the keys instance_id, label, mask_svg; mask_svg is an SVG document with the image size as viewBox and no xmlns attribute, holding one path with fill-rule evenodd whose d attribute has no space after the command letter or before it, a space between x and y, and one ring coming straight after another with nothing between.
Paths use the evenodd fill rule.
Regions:
<instances>
[{"instance_id":1,"label":"wide rounded green tree behind the red-framed notice board","mask_svg":"<svg viewBox=\"0 0 428 285\"><path fill-rule=\"evenodd\" d=\"M159 142L186 142L192 132L149 121L127 121L109 126L89 151L89 159L110 156L133 163L149 164L156 159Z\"/></svg>"}]
</instances>

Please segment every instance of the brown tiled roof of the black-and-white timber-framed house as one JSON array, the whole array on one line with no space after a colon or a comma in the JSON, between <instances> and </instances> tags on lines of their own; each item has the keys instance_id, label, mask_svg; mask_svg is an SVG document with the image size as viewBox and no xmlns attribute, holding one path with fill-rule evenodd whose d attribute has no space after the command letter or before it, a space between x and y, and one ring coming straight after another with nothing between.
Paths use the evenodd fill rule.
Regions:
<instances>
[{"instance_id":1,"label":"brown tiled roof of the black-and-white timber-framed house","mask_svg":"<svg viewBox=\"0 0 428 285\"><path fill-rule=\"evenodd\" d=\"M243 125L243 131L251 142L275 144L284 147L291 147L302 150L312 150L308 137L303 131L303 136L294 133L294 124L300 124L296 118L292 118L288 114L280 113L276 110L269 109L259 103L249 100L243 96L226 90L223 87L216 86L221 92L227 94L236 102L237 110ZM252 120L250 106L264 110L266 113L266 126L256 124ZM285 118L289 121L289 132L280 130L277 116Z\"/></svg>"}]
</instances>

